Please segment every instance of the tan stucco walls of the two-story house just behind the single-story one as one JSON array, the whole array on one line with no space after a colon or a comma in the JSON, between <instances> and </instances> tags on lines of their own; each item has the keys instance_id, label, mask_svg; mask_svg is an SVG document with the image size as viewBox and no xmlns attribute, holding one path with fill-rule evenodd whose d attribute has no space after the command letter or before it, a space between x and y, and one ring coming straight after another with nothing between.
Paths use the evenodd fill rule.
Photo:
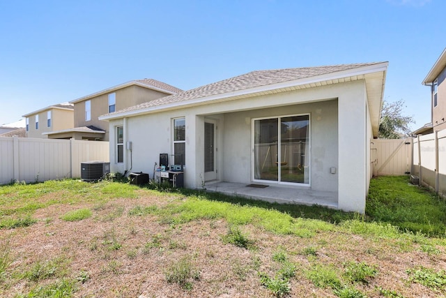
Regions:
<instances>
[{"instance_id":1,"label":"tan stucco walls of the two-story house just behind the single-story one","mask_svg":"<svg viewBox=\"0 0 446 298\"><path fill-rule=\"evenodd\" d=\"M151 89L139 87L132 85L130 87L125 87L118 89L109 94L116 94L116 111L123 110L126 107L131 107L133 105L138 105L139 103L144 103L150 100L154 100L163 96L168 96L169 94L164 94L159 91L154 91ZM75 103L75 127L81 126L96 126L105 131L103 140L109 140L109 125L107 121L101 121L98 119L103 114L109 112L109 94L102 94L91 98L91 120L85 121L85 102L81 101Z\"/></svg>"}]
</instances>

